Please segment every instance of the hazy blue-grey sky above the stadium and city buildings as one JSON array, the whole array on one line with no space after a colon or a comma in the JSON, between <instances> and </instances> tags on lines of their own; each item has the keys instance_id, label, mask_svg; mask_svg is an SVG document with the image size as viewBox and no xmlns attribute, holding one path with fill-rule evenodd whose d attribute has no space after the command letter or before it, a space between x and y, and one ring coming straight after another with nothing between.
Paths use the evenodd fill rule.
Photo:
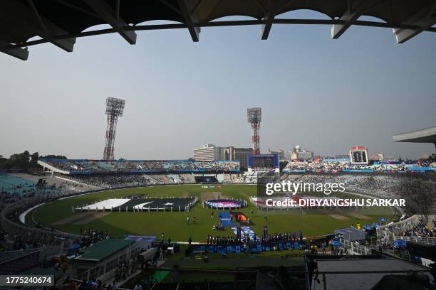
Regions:
<instances>
[{"instance_id":1,"label":"hazy blue-grey sky above the stadium and city buildings","mask_svg":"<svg viewBox=\"0 0 436 290\"><path fill-rule=\"evenodd\" d=\"M292 12L289 17L320 17ZM324 17L325 18L325 17ZM151 22L150 22L151 23ZM73 53L0 53L0 154L29 150L101 159L105 99L125 99L115 158L187 159L212 143L251 146L247 107L261 107L261 151L297 144L315 154L420 157L432 144L392 141L436 125L436 33L403 45L387 28L274 25L139 31L78 38Z\"/></svg>"}]
</instances>

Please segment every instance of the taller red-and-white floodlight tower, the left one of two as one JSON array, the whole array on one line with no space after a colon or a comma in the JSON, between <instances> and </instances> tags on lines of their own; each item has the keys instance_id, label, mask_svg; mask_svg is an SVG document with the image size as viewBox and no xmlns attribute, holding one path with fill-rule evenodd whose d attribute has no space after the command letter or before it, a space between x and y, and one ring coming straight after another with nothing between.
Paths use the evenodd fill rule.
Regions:
<instances>
[{"instance_id":1,"label":"taller red-and-white floodlight tower, the left one of two","mask_svg":"<svg viewBox=\"0 0 436 290\"><path fill-rule=\"evenodd\" d=\"M106 114L108 122L106 126L106 143L103 152L104 160L113 160L113 145L115 144L115 131L117 130L118 117L123 116L125 100L108 97L106 99Z\"/></svg>"}]
</instances>

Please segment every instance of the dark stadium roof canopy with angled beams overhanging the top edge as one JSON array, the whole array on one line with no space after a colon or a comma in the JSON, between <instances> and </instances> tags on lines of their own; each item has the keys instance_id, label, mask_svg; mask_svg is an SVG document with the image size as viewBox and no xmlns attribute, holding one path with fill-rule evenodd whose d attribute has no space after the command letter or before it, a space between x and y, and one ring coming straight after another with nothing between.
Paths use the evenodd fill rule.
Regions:
<instances>
[{"instance_id":1,"label":"dark stadium roof canopy with angled beams overhanging the top edge","mask_svg":"<svg viewBox=\"0 0 436 290\"><path fill-rule=\"evenodd\" d=\"M331 25L332 38L352 25L394 28L396 41L404 43L422 31L436 32L435 4L435 0L1 0L0 51L26 60L28 46L39 43L71 52L78 37L119 33L135 44L135 31L175 28L187 28L192 41L198 41L200 28L210 26L261 25L261 39L266 39L273 24ZM276 17L299 9L330 19ZM224 16L254 19L215 21ZM360 16L380 21L358 20ZM179 23L140 24L152 20ZM111 28L85 31L99 24ZM35 36L40 39L29 41Z\"/></svg>"}]
</instances>

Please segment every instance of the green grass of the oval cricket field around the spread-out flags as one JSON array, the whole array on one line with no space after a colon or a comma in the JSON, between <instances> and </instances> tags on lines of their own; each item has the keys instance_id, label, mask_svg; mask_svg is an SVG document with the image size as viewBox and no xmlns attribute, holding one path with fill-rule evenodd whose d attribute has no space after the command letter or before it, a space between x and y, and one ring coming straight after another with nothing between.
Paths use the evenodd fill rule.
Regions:
<instances>
[{"instance_id":1,"label":"green grass of the oval cricket field around the spread-out flags","mask_svg":"<svg viewBox=\"0 0 436 290\"><path fill-rule=\"evenodd\" d=\"M94 203L98 200L107 198L121 198L131 194L145 194L150 198L170 196L197 196L207 198L213 193L219 194L222 198L244 199L249 201L249 196L256 195L256 186L250 185L222 185L221 188L202 188L200 185L181 185L181 186L153 186L147 188L129 188L123 190L109 190L99 193L81 195L74 198L56 200L52 203L42 205L32 210L26 215L27 225L34 226L35 221L41 222L45 227L54 227L63 232L78 234L81 228L93 227L97 230L108 230L110 237L124 237L124 235L155 235L158 238L165 233L165 239L171 237L173 241L187 241L189 237L195 242L204 242L207 235L229 235L233 236L232 230L227 227L224 231L212 230L212 225L217 225L217 214L210 218L211 209L203 208L201 201L195 205L190 213L185 212L142 212L142 213L108 213L101 218L95 218L85 224L75 224L76 221L65 222L74 215L81 213L71 213L71 208L84 204ZM251 210L254 214L251 215ZM385 216L390 219L393 217L393 210L390 208L372 208L371 210L355 210L348 213L339 210L257 210L254 205L249 203L248 207L240 210L247 215L254 225L251 229L257 235L261 235L262 227L268 226L269 232L294 232L301 230L306 237L325 235L332 233L333 230L349 227L351 223L357 222L370 224ZM365 215L367 219L356 218L356 215ZM197 223L192 222L187 225L186 217L190 215L197 218ZM268 215L268 222L264 222L264 215ZM339 215L343 218L334 218L332 215ZM192 219L191 219L192 220ZM64 221L64 222L60 222Z\"/></svg>"}]
</instances>

